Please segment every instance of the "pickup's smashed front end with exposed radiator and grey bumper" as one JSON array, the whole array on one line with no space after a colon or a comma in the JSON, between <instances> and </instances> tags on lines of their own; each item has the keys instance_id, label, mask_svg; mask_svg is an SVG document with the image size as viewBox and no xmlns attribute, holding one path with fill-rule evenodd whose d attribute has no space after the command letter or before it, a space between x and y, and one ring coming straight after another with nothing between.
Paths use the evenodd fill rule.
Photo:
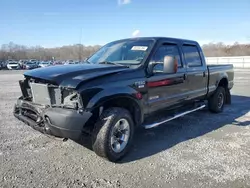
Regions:
<instances>
[{"instance_id":1,"label":"pickup's smashed front end with exposed radiator and grey bumper","mask_svg":"<svg viewBox=\"0 0 250 188\"><path fill-rule=\"evenodd\" d=\"M44 80L19 81L22 96L14 116L34 129L61 138L79 139L92 116L84 110L80 94Z\"/></svg>"}]
</instances>

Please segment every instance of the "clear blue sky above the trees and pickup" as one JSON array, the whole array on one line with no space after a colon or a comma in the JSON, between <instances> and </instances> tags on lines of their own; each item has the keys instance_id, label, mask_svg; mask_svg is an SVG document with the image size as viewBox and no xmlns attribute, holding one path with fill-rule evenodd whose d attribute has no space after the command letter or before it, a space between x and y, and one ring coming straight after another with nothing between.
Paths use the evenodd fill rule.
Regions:
<instances>
[{"instance_id":1,"label":"clear blue sky above the trees and pickup","mask_svg":"<svg viewBox=\"0 0 250 188\"><path fill-rule=\"evenodd\" d=\"M0 0L0 45L103 45L163 36L250 43L250 0Z\"/></svg>"}]
</instances>

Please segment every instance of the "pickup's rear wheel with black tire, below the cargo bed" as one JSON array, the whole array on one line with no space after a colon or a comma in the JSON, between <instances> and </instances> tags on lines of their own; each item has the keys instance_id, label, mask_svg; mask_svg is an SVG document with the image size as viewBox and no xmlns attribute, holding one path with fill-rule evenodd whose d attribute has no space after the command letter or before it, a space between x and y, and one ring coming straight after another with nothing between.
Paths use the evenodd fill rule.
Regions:
<instances>
[{"instance_id":1,"label":"pickup's rear wheel with black tire, below the cargo bed","mask_svg":"<svg viewBox=\"0 0 250 188\"><path fill-rule=\"evenodd\" d=\"M225 88L219 86L216 89L215 93L208 99L208 108L213 113L220 113L224 109L225 102L226 102Z\"/></svg>"}]
</instances>

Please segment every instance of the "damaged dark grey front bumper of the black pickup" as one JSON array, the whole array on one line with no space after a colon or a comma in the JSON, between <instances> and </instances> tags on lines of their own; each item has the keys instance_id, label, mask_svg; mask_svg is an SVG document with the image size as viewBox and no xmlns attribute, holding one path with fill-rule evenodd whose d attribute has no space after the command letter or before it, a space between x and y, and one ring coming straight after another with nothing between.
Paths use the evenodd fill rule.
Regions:
<instances>
[{"instance_id":1,"label":"damaged dark grey front bumper of the black pickup","mask_svg":"<svg viewBox=\"0 0 250 188\"><path fill-rule=\"evenodd\" d=\"M59 107L45 108L20 98L14 106L14 116L44 134L77 140L92 113Z\"/></svg>"}]
</instances>

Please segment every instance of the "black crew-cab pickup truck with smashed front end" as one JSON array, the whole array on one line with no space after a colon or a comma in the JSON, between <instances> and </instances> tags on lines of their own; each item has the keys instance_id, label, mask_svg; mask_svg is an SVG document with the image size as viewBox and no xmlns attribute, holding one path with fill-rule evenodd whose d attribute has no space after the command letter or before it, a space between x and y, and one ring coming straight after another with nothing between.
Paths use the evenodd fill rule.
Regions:
<instances>
[{"instance_id":1,"label":"black crew-cab pickup truck with smashed front end","mask_svg":"<svg viewBox=\"0 0 250 188\"><path fill-rule=\"evenodd\" d=\"M207 107L231 103L232 65L206 65L196 41L139 37L113 41L78 65L30 70L19 81L14 116L63 139L89 134L110 161L129 150L135 128L146 129ZM155 114L164 111L164 117Z\"/></svg>"}]
</instances>

